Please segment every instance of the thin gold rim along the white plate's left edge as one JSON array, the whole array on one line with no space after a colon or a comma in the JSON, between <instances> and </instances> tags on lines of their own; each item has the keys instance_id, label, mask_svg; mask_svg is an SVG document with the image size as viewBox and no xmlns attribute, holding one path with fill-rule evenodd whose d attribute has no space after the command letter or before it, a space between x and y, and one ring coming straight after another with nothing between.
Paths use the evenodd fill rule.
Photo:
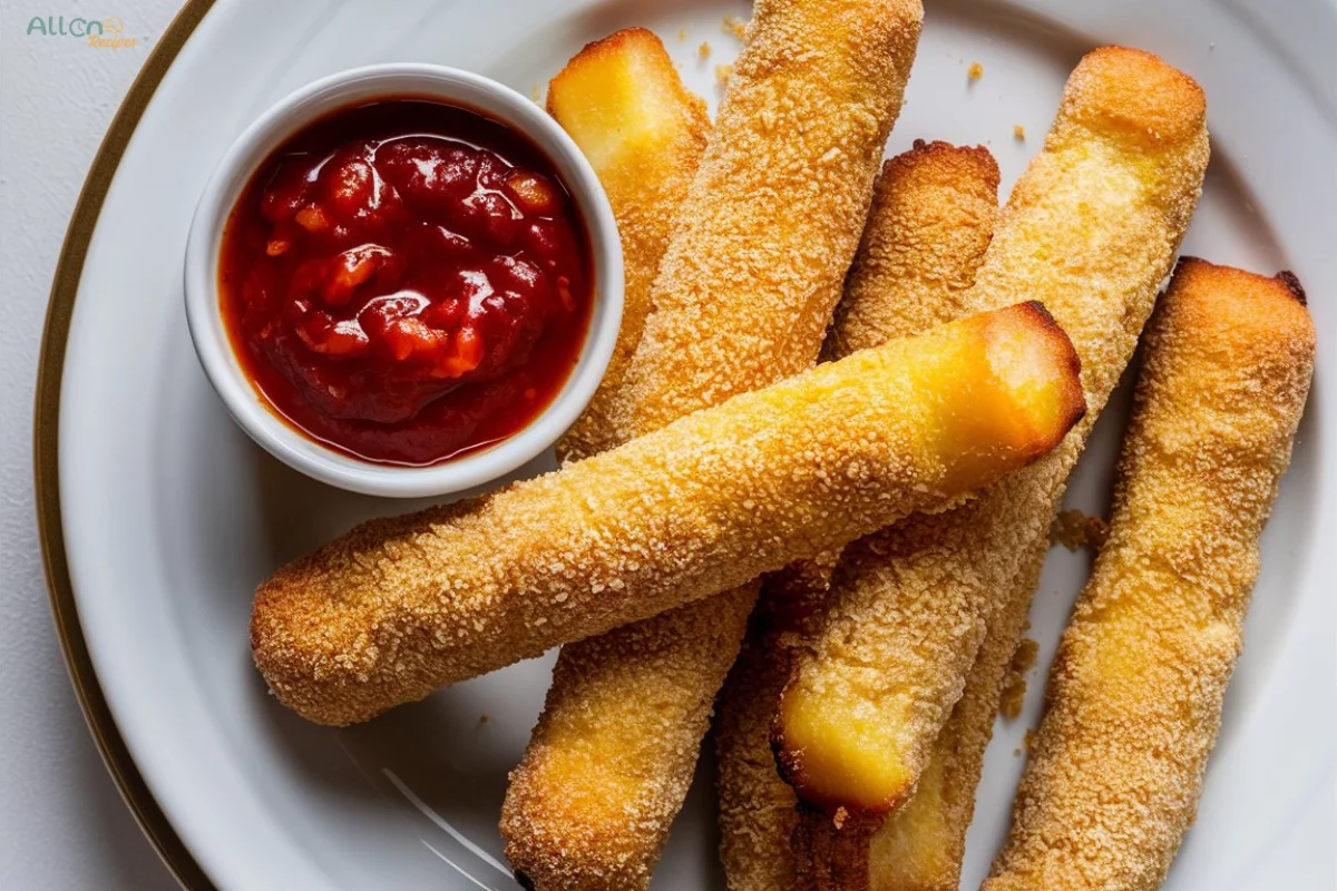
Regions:
<instances>
[{"instance_id":1,"label":"thin gold rim along the white plate's left edge","mask_svg":"<svg viewBox=\"0 0 1337 891\"><path fill-rule=\"evenodd\" d=\"M64 529L60 520L60 474L57 435L60 422L60 379L64 371L66 341L70 337L70 319L74 315L79 279L83 274L88 243L98 227L98 216L107 198L107 188L120 166L130 138L139 126L144 108L152 99L172 61L194 33L214 0L186 0L180 11L167 25L158 45L154 47L139 76L130 85L130 92L111 119L111 127L103 136L98 155L94 158L88 178L84 180L79 200L66 230L66 240L60 246L60 259L51 285L51 301L47 306L47 322L41 334L41 353L37 361L37 389L33 406L32 453L33 476L37 502L37 536L41 541L41 558L47 570L47 592L51 597L51 612L56 620L56 633L66 655L66 667L74 683L79 705L83 708L88 729L92 732L102 760L111 771L112 779L130 811L135 815L139 828L144 831L158 856L171 870L171 874L190 891L209 890L214 884L205 875L190 851L172 830L162 808L154 800L148 785L140 776L135 761L126 748L116 723L103 697L102 687L88 657L83 629L79 625L79 610L70 585L70 566L66 562Z\"/></svg>"}]
</instances>

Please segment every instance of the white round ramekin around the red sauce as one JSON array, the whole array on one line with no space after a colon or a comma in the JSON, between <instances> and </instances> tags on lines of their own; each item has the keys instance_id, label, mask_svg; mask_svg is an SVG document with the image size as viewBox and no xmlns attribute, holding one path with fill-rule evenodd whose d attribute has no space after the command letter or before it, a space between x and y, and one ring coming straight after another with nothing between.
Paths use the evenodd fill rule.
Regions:
<instances>
[{"instance_id":1,"label":"white round ramekin around the red sauce","mask_svg":"<svg viewBox=\"0 0 1337 891\"><path fill-rule=\"evenodd\" d=\"M551 405L515 435L445 464L409 468L349 457L281 421L247 379L233 353L218 294L223 226L237 196L283 140L313 120L376 98L422 96L495 118L528 136L562 175L586 220L594 259L590 331L575 370ZM441 65L353 68L302 87L266 111L231 144L205 187L186 243L186 319L195 353L233 418L266 452L341 489L421 497L459 492L501 477L536 457L584 410L608 366L622 323L622 246L608 198L571 138L539 106L480 75Z\"/></svg>"}]
</instances>

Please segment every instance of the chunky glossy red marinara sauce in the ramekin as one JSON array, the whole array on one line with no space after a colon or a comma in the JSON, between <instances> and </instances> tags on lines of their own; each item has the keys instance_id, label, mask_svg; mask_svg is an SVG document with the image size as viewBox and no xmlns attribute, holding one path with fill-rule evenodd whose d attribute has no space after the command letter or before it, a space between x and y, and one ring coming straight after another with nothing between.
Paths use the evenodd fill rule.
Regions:
<instances>
[{"instance_id":1,"label":"chunky glossy red marinara sauce in the ramekin","mask_svg":"<svg viewBox=\"0 0 1337 891\"><path fill-rule=\"evenodd\" d=\"M412 96L337 111L259 167L219 258L233 350L270 409L374 462L521 430L580 354L590 239L552 162Z\"/></svg>"}]
</instances>

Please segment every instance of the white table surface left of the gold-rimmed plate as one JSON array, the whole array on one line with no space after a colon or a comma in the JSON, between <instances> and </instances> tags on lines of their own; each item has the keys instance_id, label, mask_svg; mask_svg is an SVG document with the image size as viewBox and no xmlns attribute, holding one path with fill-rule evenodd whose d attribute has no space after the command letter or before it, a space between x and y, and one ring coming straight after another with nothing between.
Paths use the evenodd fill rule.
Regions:
<instances>
[{"instance_id":1,"label":"white table surface left of the gold-rimmed plate","mask_svg":"<svg viewBox=\"0 0 1337 891\"><path fill-rule=\"evenodd\" d=\"M0 890L176 887L103 768L47 604L32 488L32 398L51 277L79 188L176 0L0 8ZM33 15L115 12L132 49L25 35ZM1332 801L1285 840L1332 843Z\"/></svg>"}]
</instances>

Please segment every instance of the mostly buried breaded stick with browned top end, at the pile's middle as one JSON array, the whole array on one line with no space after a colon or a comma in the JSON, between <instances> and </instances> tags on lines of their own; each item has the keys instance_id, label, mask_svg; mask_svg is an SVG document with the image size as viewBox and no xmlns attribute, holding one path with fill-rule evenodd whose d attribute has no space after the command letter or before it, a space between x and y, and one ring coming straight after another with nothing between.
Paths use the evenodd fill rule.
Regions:
<instances>
[{"instance_id":1,"label":"mostly buried breaded stick with browned top end, at the pile's middle","mask_svg":"<svg viewBox=\"0 0 1337 891\"><path fill-rule=\"evenodd\" d=\"M916 143L885 162L822 354L841 358L961 314L997 215L999 171L985 148ZM715 716L719 855L730 891L790 888L798 799L775 772L770 721L834 565L767 577Z\"/></svg>"}]
</instances>

